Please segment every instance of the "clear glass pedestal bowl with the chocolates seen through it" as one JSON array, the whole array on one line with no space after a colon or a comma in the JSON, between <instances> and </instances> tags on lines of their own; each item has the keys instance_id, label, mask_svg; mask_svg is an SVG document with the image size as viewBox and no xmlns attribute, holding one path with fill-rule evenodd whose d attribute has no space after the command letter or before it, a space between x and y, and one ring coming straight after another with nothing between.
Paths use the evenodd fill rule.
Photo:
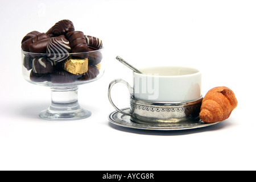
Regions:
<instances>
[{"instance_id":1,"label":"clear glass pedestal bowl with the chocolates seen through it","mask_svg":"<svg viewBox=\"0 0 256 182\"><path fill-rule=\"evenodd\" d=\"M41 118L67 120L90 117L92 113L79 105L77 90L79 85L96 81L104 74L102 51L56 54L64 58L59 62L49 59L46 53L22 51L24 79L51 88L51 105L39 114Z\"/></svg>"}]
</instances>

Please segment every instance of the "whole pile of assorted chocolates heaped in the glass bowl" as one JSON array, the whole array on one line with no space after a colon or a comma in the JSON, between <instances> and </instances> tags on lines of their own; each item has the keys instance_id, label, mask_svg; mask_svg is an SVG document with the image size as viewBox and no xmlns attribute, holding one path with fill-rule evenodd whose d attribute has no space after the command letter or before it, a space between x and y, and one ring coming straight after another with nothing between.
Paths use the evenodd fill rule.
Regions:
<instances>
[{"instance_id":1,"label":"whole pile of assorted chocolates heaped in the glass bowl","mask_svg":"<svg viewBox=\"0 0 256 182\"><path fill-rule=\"evenodd\" d=\"M46 33L29 32L22 39L23 65L36 82L69 83L100 73L102 41L75 31L71 20L60 20Z\"/></svg>"}]
</instances>

